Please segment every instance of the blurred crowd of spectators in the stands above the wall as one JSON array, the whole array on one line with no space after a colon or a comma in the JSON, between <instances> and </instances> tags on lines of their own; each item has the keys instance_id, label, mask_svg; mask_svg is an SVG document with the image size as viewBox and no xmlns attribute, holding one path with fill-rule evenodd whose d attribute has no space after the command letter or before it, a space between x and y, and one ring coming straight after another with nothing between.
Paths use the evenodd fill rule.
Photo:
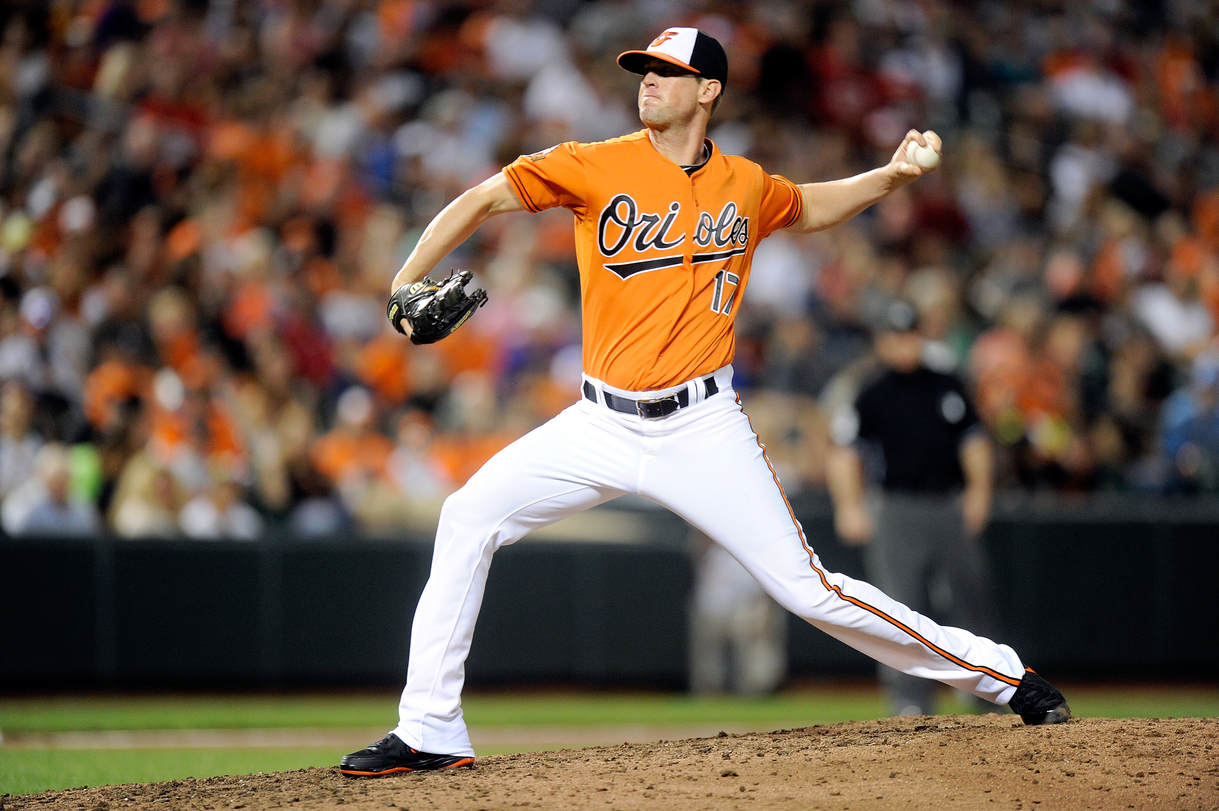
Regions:
<instances>
[{"instance_id":1,"label":"blurred crowd of spectators in the stands above the wall","mask_svg":"<svg viewBox=\"0 0 1219 811\"><path fill-rule=\"evenodd\" d=\"M895 296L1000 485L1219 489L1219 12L1202 0L13 0L0 11L0 526L252 538L427 523L579 396L572 215L438 268L490 302L412 346L389 283L519 154L640 128L614 63L727 48L711 137L796 182L941 170L762 243L739 385L789 489Z\"/></svg>"}]
</instances>

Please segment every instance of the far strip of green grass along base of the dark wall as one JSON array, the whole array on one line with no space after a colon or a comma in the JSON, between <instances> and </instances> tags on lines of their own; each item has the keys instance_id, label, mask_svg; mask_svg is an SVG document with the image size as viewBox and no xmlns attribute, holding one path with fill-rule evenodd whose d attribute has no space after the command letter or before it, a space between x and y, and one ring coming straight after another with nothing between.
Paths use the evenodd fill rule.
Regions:
<instances>
[{"instance_id":1,"label":"far strip of green grass along base of the dark wall","mask_svg":"<svg viewBox=\"0 0 1219 811\"><path fill-rule=\"evenodd\" d=\"M1076 715L1219 716L1219 690L1198 687L1068 687ZM951 694L941 711L959 711ZM473 693L466 721L478 726L602 723L773 723L800 727L879 718L884 700L867 688L789 690L763 699L677 693ZM0 699L0 732L384 727L397 720L396 693L304 695L51 696Z\"/></svg>"}]
</instances>

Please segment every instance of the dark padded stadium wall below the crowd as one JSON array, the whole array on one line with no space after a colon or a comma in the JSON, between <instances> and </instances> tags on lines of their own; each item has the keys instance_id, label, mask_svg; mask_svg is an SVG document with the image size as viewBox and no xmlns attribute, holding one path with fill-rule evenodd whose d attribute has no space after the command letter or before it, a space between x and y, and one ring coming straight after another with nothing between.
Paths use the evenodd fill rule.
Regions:
<instances>
[{"instance_id":1,"label":"dark padded stadium wall below the crowd","mask_svg":"<svg viewBox=\"0 0 1219 811\"><path fill-rule=\"evenodd\" d=\"M824 504L796 506L825 566L862 577ZM497 552L471 684L684 685L685 524L616 512L641 528L633 541ZM1217 528L1209 502L1001 504L986 537L1001 639L1057 673L1212 678ZM425 533L0 539L0 688L397 684L430 552ZM795 618L789 652L796 676L870 672Z\"/></svg>"}]
</instances>

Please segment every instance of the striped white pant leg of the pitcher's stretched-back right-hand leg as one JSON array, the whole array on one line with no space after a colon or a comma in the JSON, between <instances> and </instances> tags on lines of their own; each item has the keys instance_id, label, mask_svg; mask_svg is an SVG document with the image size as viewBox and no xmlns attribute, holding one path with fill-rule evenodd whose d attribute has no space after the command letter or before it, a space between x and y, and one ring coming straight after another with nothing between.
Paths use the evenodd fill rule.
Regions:
<instances>
[{"instance_id":1,"label":"striped white pant leg of the pitcher's stretched-back right-hand leg","mask_svg":"<svg viewBox=\"0 0 1219 811\"><path fill-rule=\"evenodd\" d=\"M831 637L903 673L1008 702L1025 672L1014 650L825 571L734 396L663 421L642 495L723 544L779 605Z\"/></svg>"}]
</instances>

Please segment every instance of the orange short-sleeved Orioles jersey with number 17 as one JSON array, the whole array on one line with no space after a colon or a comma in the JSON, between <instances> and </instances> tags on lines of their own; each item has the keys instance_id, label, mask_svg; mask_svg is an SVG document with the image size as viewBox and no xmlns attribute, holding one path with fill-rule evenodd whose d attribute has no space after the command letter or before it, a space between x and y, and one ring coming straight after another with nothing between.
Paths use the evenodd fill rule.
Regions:
<instances>
[{"instance_id":1,"label":"orange short-sleeved Orioles jersey with number 17","mask_svg":"<svg viewBox=\"0 0 1219 811\"><path fill-rule=\"evenodd\" d=\"M575 215L590 377L649 391L731 362L753 249L800 220L803 195L752 161L711 150L688 176L645 129L560 144L505 167L529 211Z\"/></svg>"}]
</instances>

